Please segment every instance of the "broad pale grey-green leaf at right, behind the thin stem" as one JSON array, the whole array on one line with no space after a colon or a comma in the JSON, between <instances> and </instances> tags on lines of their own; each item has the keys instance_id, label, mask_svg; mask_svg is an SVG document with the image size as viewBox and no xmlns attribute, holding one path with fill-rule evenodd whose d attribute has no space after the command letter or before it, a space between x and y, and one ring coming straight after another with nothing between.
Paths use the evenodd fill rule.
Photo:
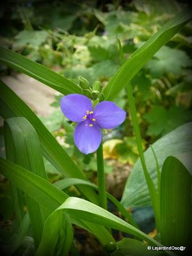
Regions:
<instances>
[{"instance_id":1,"label":"broad pale grey-green leaf at right, behind the thin stem","mask_svg":"<svg viewBox=\"0 0 192 256\"><path fill-rule=\"evenodd\" d=\"M172 132L166 134L157 140L152 147L157 156L160 168L166 157L192 151L191 134L192 122L181 125ZM151 148L145 153L145 161L148 172L157 186L156 161ZM134 207L141 205L150 205L150 196L148 194L147 184L143 175L141 161L138 159L125 185L124 195L122 196L122 204L125 207Z\"/></svg>"}]
</instances>

